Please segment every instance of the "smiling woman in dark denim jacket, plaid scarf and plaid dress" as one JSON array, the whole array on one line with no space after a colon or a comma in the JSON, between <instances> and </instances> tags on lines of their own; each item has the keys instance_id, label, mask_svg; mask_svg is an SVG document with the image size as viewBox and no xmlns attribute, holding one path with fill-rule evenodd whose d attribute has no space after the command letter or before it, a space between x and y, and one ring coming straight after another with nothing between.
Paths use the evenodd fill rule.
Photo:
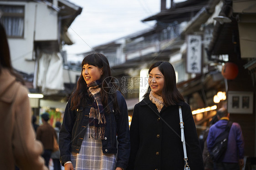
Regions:
<instances>
[{"instance_id":1,"label":"smiling woman in dark denim jacket, plaid scarf and plaid dress","mask_svg":"<svg viewBox=\"0 0 256 170\"><path fill-rule=\"evenodd\" d=\"M128 110L104 55L96 53L83 59L59 139L65 170L126 169L130 152Z\"/></svg>"}]
</instances>

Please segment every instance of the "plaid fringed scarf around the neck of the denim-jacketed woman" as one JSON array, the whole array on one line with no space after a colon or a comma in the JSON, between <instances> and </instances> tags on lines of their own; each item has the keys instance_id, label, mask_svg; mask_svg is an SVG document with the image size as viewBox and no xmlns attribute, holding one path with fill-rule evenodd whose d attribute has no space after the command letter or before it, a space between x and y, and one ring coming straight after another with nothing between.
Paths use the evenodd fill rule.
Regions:
<instances>
[{"instance_id":1,"label":"plaid fringed scarf around the neck of the denim-jacketed woman","mask_svg":"<svg viewBox=\"0 0 256 170\"><path fill-rule=\"evenodd\" d=\"M99 87L100 80L93 81L88 84L88 94L94 100L89 113L89 126L90 136L94 137L95 140L104 138L106 119L104 116L104 108L101 101L101 95Z\"/></svg>"}]
</instances>

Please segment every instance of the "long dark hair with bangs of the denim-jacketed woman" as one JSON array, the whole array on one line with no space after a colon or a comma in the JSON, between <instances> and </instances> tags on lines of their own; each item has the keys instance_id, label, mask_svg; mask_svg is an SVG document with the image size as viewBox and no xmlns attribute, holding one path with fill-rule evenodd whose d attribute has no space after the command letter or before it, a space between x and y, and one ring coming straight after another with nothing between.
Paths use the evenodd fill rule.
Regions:
<instances>
[{"instance_id":1,"label":"long dark hair with bangs of the denim-jacketed woman","mask_svg":"<svg viewBox=\"0 0 256 170\"><path fill-rule=\"evenodd\" d=\"M105 55L100 53L93 53L90 55L87 55L82 60L82 67L83 65L94 65L97 66L99 69L102 69L102 76L100 78L102 84L101 86L101 98L102 98L102 104L106 108L105 111L108 113L110 111L108 106L108 97L110 97L111 101L113 102L114 111L118 110L118 102L116 93L111 92L111 89L118 89L116 86L116 83L114 82L113 78L111 77L111 71L108 63L108 59ZM75 110L78 109L79 106L85 107L87 105L87 99L89 98L88 92L87 92L87 84L81 75L77 81L77 87L73 91L71 96L71 109Z\"/></svg>"}]
</instances>

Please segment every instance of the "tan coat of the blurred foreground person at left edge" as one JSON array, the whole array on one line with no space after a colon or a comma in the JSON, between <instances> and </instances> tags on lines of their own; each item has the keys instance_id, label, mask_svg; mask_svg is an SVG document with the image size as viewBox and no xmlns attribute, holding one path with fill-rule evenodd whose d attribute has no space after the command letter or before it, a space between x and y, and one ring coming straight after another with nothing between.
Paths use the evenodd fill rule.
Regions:
<instances>
[{"instance_id":1,"label":"tan coat of the blurred foreground person at left edge","mask_svg":"<svg viewBox=\"0 0 256 170\"><path fill-rule=\"evenodd\" d=\"M47 170L35 140L26 87L6 69L0 74L0 169Z\"/></svg>"}]
</instances>

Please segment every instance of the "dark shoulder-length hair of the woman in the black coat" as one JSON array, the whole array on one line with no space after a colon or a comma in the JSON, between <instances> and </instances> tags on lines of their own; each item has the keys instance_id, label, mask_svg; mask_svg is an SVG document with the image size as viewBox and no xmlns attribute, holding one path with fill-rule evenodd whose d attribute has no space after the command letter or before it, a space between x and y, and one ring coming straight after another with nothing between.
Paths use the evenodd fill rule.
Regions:
<instances>
[{"instance_id":1,"label":"dark shoulder-length hair of the woman in the black coat","mask_svg":"<svg viewBox=\"0 0 256 170\"><path fill-rule=\"evenodd\" d=\"M148 70L148 74L152 69L158 67L160 72L164 75L164 88L162 90L162 97L166 106L176 105L180 101L184 101L183 96L179 93L176 87L176 75L173 65L166 61L155 62ZM150 87L148 86L147 93L143 96L144 98L149 97Z\"/></svg>"}]
</instances>

